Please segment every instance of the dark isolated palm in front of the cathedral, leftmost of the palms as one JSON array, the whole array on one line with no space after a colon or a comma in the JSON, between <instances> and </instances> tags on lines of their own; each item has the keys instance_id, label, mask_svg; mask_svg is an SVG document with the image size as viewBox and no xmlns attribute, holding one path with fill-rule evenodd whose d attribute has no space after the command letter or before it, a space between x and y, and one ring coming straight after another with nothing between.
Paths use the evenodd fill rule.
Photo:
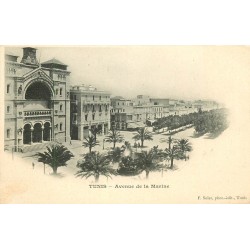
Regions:
<instances>
[{"instance_id":1,"label":"dark isolated palm in front of the cathedral, leftmost of the palms","mask_svg":"<svg viewBox=\"0 0 250 250\"><path fill-rule=\"evenodd\" d=\"M44 165L48 164L53 169L53 174L57 174L57 168L67 166L69 161L74 155L63 145L53 144L51 147L46 147L47 151L44 153L36 153L38 162Z\"/></svg>"}]
</instances>

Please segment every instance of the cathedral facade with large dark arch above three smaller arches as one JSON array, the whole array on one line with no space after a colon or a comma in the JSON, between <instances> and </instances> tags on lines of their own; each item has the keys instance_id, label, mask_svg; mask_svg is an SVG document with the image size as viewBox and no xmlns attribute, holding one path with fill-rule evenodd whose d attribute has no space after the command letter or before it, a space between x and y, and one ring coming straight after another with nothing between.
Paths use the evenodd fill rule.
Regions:
<instances>
[{"instance_id":1,"label":"cathedral facade with large dark arch above three smaller arches","mask_svg":"<svg viewBox=\"0 0 250 250\"><path fill-rule=\"evenodd\" d=\"M70 72L52 59L38 63L36 49L5 55L5 148L32 151L46 142L70 140Z\"/></svg>"}]
</instances>

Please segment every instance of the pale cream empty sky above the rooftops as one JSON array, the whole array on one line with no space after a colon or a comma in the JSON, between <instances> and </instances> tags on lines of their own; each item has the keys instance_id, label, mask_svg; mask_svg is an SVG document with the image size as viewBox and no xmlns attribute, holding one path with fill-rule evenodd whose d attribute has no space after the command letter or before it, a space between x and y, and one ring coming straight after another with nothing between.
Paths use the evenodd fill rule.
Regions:
<instances>
[{"instance_id":1,"label":"pale cream empty sky above the rooftops","mask_svg":"<svg viewBox=\"0 0 250 250\"><path fill-rule=\"evenodd\" d=\"M41 62L67 64L71 84L91 84L112 95L138 94L230 102L249 91L250 49L236 46L36 47ZM21 48L6 51L22 58ZM242 91L241 91L242 92Z\"/></svg>"}]
</instances>

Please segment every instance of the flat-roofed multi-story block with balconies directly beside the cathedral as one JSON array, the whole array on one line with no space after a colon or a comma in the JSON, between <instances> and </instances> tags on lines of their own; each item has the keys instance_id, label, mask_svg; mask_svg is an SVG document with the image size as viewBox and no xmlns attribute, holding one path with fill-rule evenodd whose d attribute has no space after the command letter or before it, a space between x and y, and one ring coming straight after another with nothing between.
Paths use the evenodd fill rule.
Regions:
<instances>
[{"instance_id":1,"label":"flat-roofed multi-story block with balconies directly beside the cathedral","mask_svg":"<svg viewBox=\"0 0 250 250\"><path fill-rule=\"evenodd\" d=\"M92 128L102 134L110 129L110 93L100 91L91 85L75 85L70 90L71 138L83 140Z\"/></svg>"}]
</instances>

